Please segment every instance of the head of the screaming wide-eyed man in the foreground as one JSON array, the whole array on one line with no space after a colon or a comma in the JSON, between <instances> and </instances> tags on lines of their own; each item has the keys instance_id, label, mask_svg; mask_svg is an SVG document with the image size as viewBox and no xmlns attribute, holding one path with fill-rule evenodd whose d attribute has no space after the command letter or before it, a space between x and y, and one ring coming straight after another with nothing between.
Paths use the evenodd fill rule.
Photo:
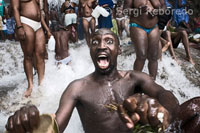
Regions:
<instances>
[{"instance_id":1,"label":"head of the screaming wide-eyed man in the foreground","mask_svg":"<svg viewBox=\"0 0 200 133\"><path fill-rule=\"evenodd\" d=\"M110 29L99 29L90 38L90 55L96 71L108 74L117 66L119 38Z\"/></svg>"}]
</instances>

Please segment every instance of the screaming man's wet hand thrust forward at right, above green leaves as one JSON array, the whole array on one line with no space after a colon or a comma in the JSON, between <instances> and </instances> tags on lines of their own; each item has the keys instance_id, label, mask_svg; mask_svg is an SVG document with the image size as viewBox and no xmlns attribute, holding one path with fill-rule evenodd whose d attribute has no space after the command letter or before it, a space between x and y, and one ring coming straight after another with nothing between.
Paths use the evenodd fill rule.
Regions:
<instances>
[{"instance_id":1,"label":"screaming man's wet hand thrust forward at right, above green leaves","mask_svg":"<svg viewBox=\"0 0 200 133\"><path fill-rule=\"evenodd\" d=\"M119 106L118 111L128 128L134 128L138 121L151 126L161 125L162 128L169 125L168 111L156 99L147 95L135 94L129 97Z\"/></svg>"}]
</instances>

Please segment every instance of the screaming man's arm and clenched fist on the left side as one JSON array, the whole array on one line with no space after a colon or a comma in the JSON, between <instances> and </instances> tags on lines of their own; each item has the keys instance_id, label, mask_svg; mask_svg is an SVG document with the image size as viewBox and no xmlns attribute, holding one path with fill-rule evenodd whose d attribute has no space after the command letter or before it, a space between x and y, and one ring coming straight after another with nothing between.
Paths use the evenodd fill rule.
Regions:
<instances>
[{"instance_id":1,"label":"screaming man's arm and clenched fist on the left side","mask_svg":"<svg viewBox=\"0 0 200 133\"><path fill-rule=\"evenodd\" d=\"M76 81L72 82L61 97L60 105L56 112L56 120L61 133L67 126L77 103L78 90L81 86L78 84ZM40 113L37 107L24 106L8 118L6 129L9 133L32 132L40 123L39 115Z\"/></svg>"}]
</instances>

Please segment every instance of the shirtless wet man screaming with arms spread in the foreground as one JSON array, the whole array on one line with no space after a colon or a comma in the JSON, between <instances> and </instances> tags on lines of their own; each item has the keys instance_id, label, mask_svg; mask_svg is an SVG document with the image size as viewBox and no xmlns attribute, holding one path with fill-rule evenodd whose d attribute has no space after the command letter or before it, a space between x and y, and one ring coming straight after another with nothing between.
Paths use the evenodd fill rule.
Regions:
<instances>
[{"instance_id":1,"label":"shirtless wet man screaming with arms spread in the foreground","mask_svg":"<svg viewBox=\"0 0 200 133\"><path fill-rule=\"evenodd\" d=\"M156 84L144 73L117 70L117 56L120 49L119 40L113 32L100 29L93 34L90 42L90 55L95 71L82 79L71 82L62 94L56 112L60 132L64 131L73 109L77 107L86 133L132 133L134 122L128 118L127 114L124 116L122 113L124 110L131 111L129 109L133 102L129 101L134 98L138 100L138 107L135 109L139 112L141 120L146 120L147 117L152 121L157 120L153 112L160 110L165 114L164 119L171 121L179 107L177 99L171 92ZM136 93L136 88L138 92L158 99L165 108L157 102L148 104L147 96L141 98L132 96ZM117 107L113 107L116 104L120 105L119 112ZM147 113L147 109L152 113ZM19 120L19 127L13 127L17 123L17 120L13 119L20 117L19 115L15 114L9 118L7 123L9 131L17 131L21 128L23 119Z\"/></svg>"}]
</instances>

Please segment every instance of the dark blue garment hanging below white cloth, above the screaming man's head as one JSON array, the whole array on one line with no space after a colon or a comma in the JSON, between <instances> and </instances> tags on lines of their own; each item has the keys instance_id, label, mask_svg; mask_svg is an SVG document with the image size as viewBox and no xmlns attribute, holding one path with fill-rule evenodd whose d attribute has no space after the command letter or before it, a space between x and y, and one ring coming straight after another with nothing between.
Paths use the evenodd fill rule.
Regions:
<instances>
[{"instance_id":1,"label":"dark blue garment hanging below white cloth, above the screaming man's head","mask_svg":"<svg viewBox=\"0 0 200 133\"><path fill-rule=\"evenodd\" d=\"M111 9L110 8L105 8L110 14L108 17L103 17L102 15L99 16L98 18L98 28L112 28L112 14L111 14Z\"/></svg>"}]
</instances>

